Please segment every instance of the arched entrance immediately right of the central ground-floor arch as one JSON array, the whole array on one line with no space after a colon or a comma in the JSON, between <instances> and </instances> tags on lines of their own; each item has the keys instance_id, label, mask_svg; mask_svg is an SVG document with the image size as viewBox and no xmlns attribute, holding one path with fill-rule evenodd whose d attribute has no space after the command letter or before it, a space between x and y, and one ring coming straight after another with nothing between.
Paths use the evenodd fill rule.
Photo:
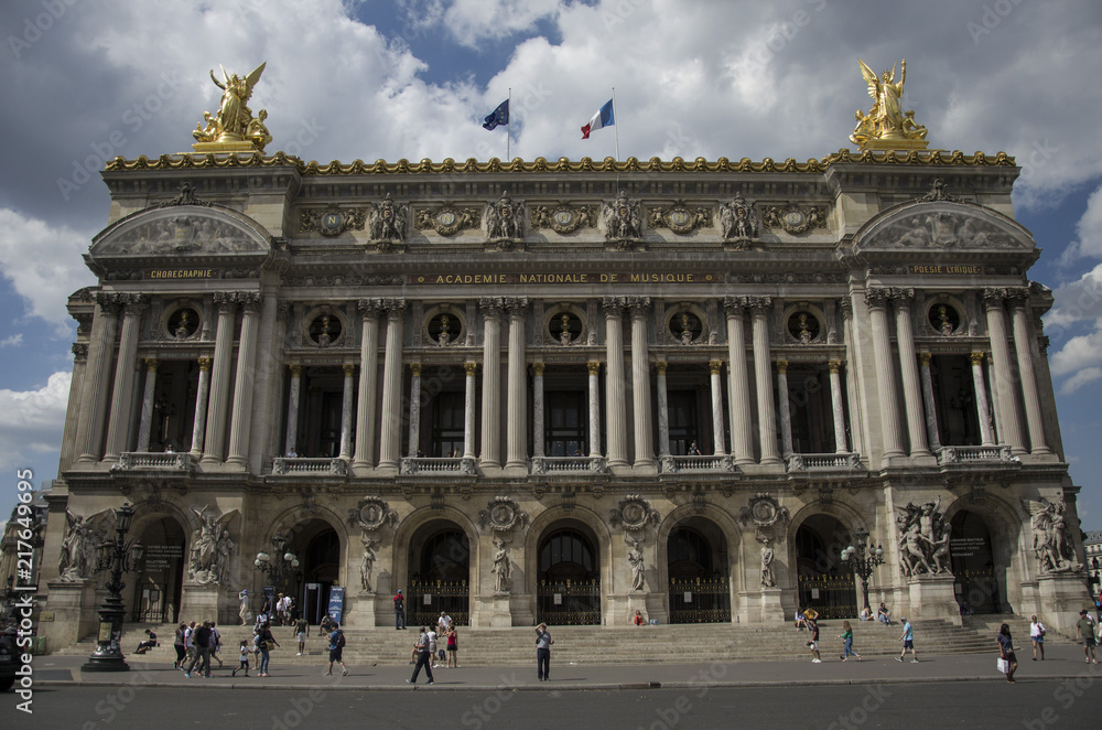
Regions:
<instances>
[{"instance_id":1,"label":"arched entrance immediately right of the central ground-floor arch","mask_svg":"<svg viewBox=\"0 0 1102 730\"><path fill-rule=\"evenodd\" d=\"M731 621L727 543L703 517L678 523L666 543L670 580L670 623Z\"/></svg>"}]
</instances>

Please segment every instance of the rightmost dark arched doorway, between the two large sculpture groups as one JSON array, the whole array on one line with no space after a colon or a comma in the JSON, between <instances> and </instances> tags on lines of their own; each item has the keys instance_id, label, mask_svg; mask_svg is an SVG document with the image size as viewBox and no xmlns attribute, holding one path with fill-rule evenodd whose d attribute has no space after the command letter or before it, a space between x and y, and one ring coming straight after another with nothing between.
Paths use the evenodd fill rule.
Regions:
<instances>
[{"instance_id":1,"label":"rightmost dark arched doorway, between the two large sculpture groups","mask_svg":"<svg viewBox=\"0 0 1102 730\"><path fill-rule=\"evenodd\" d=\"M1005 600L991 546L991 530L979 514L962 509L950 520L949 556L953 592L961 613L1002 613Z\"/></svg>"}]
</instances>

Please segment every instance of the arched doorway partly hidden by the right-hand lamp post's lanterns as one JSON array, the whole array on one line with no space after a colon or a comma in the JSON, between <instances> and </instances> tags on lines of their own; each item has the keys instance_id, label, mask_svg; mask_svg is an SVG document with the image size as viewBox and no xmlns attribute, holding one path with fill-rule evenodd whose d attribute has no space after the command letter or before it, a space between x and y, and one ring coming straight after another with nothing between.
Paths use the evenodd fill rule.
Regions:
<instances>
[{"instance_id":1,"label":"arched doorway partly hidden by the right-hand lamp post's lanterns","mask_svg":"<svg viewBox=\"0 0 1102 730\"><path fill-rule=\"evenodd\" d=\"M850 530L830 515L811 515L796 530L796 573L800 608L822 619L855 619L857 590L842 562Z\"/></svg>"}]
</instances>

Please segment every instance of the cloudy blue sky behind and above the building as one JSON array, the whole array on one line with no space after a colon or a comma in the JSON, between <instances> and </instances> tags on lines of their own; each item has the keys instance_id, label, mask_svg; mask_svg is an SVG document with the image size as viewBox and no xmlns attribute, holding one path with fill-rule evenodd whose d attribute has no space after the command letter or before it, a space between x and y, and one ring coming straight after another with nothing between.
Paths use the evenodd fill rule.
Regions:
<instances>
[{"instance_id":1,"label":"cloudy blue sky behind and above the building","mask_svg":"<svg viewBox=\"0 0 1102 730\"><path fill-rule=\"evenodd\" d=\"M1063 444L1102 528L1102 3L1096 0L6 0L0 3L0 518L15 470L56 475L82 254L107 224L106 160L191 149L220 90L305 160L505 158L483 117L511 89L511 157L806 161L871 104L857 58L907 61L931 147L1023 168L1044 249ZM220 72L219 72L220 73ZM581 139L612 96L616 125Z\"/></svg>"}]
</instances>

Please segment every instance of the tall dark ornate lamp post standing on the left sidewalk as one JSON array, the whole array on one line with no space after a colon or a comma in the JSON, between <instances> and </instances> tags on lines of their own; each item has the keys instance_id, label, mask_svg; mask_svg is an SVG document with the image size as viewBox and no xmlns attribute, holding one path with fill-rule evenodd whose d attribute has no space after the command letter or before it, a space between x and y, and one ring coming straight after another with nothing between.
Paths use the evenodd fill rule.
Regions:
<instances>
[{"instance_id":1,"label":"tall dark ornate lamp post standing on the left sidewalk","mask_svg":"<svg viewBox=\"0 0 1102 730\"><path fill-rule=\"evenodd\" d=\"M122 573L138 567L143 548L137 540L128 540L130 523L133 520L134 508L123 504L115 511L115 539L99 546L96 561L96 572L110 570L107 580L107 598L99 606L99 636L96 650L80 667L82 672L128 672L130 666L123 661L120 642L122 640L122 618L126 609L122 605Z\"/></svg>"}]
</instances>

